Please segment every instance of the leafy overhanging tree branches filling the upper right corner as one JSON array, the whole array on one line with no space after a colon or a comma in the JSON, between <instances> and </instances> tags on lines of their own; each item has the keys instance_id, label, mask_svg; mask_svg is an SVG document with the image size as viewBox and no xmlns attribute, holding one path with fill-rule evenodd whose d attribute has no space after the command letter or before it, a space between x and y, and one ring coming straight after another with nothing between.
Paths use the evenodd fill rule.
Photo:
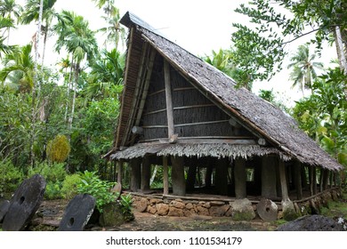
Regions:
<instances>
[{"instance_id":1,"label":"leafy overhanging tree branches filling the upper right corner","mask_svg":"<svg viewBox=\"0 0 347 249\"><path fill-rule=\"evenodd\" d=\"M316 44L318 51L332 35L340 37L335 44L340 44L342 51L340 62L345 61L346 1L253 0L249 5L241 4L236 12L248 16L253 27L233 24L237 28L231 36L233 58L254 79L269 79L278 72L287 54L286 44L310 34L314 35L311 43Z\"/></svg>"}]
</instances>

